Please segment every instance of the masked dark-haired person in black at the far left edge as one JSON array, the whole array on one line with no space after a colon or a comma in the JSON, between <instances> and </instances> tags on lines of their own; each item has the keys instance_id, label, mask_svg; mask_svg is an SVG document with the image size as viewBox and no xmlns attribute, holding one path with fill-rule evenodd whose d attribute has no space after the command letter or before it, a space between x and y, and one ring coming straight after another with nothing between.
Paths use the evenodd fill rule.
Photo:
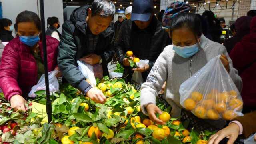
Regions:
<instances>
[{"instance_id":1,"label":"masked dark-haired person in black at the far left edge","mask_svg":"<svg viewBox=\"0 0 256 144\"><path fill-rule=\"evenodd\" d=\"M14 37L12 36L12 31L14 30L14 26L12 25L12 21L3 18L0 20L0 40L2 42L10 42Z\"/></svg>"}]
</instances>

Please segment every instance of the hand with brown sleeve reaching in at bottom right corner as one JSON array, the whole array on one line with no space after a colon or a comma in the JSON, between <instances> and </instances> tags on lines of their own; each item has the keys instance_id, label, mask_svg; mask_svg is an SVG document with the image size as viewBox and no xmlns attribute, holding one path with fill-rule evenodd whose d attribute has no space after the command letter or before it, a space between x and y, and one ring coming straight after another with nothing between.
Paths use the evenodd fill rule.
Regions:
<instances>
[{"instance_id":1,"label":"hand with brown sleeve reaching in at bottom right corner","mask_svg":"<svg viewBox=\"0 0 256 144\"><path fill-rule=\"evenodd\" d=\"M227 144L233 144L239 135L239 131L240 131L240 128L238 124L231 123L226 128L212 135L210 137L208 144L218 144L225 137L229 139Z\"/></svg>"}]
</instances>

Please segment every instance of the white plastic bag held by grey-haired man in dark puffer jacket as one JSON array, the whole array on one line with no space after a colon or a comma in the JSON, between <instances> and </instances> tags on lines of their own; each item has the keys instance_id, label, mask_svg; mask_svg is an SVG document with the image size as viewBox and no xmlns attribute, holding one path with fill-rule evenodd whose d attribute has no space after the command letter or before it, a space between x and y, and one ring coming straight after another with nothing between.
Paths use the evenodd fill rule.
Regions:
<instances>
[{"instance_id":1,"label":"white plastic bag held by grey-haired man in dark puffer jacket","mask_svg":"<svg viewBox=\"0 0 256 144\"><path fill-rule=\"evenodd\" d=\"M77 64L78 64L78 69L82 72L86 80L89 80L92 86L96 86L96 79L93 72L93 66L90 64L87 64L82 60L80 61L78 60Z\"/></svg>"}]
</instances>

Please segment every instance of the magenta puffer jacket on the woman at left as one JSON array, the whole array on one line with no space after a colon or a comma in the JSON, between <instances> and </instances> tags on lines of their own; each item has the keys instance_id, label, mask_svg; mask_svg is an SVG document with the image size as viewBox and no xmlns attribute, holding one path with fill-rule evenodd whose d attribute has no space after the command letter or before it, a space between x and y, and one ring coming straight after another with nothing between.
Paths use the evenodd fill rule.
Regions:
<instances>
[{"instance_id":1,"label":"magenta puffer jacket on the woman at left","mask_svg":"<svg viewBox=\"0 0 256 144\"><path fill-rule=\"evenodd\" d=\"M58 40L46 36L48 72L57 66ZM39 42L43 59L42 42ZM7 100L19 94L25 99L32 86L38 82L37 65L30 47L23 44L19 37L14 38L4 48L0 64L0 87Z\"/></svg>"}]
</instances>

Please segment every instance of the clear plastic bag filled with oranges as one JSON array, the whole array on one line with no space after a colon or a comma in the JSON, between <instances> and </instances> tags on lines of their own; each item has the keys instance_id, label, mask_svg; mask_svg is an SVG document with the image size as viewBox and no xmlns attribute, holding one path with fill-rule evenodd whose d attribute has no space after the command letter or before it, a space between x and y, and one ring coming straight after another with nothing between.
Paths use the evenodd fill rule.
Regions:
<instances>
[{"instance_id":1,"label":"clear plastic bag filled with oranges","mask_svg":"<svg viewBox=\"0 0 256 144\"><path fill-rule=\"evenodd\" d=\"M220 56L210 60L180 86L180 104L203 119L242 116L243 101Z\"/></svg>"}]
</instances>

